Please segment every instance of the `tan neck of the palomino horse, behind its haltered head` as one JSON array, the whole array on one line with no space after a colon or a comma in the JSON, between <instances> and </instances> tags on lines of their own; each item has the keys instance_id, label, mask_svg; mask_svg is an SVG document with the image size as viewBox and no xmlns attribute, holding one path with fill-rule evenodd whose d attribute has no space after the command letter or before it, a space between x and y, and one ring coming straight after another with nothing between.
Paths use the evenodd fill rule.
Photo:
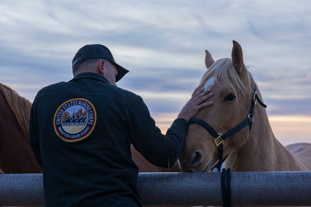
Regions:
<instances>
[{"instance_id":1,"label":"tan neck of the palomino horse, behind its haltered head","mask_svg":"<svg viewBox=\"0 0 311 207\"><path fill-rule=\"evenodd\" d=\"M232 171L296 171L299 161L274 136L265 108L257 104L247 141L225 162Z\"/></svg>"}]
</instances>

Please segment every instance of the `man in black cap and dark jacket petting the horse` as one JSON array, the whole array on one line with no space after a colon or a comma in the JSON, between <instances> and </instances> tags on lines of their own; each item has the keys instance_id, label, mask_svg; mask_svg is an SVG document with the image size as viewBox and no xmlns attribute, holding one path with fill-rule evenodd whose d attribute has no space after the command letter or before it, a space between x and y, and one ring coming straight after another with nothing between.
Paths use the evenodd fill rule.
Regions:
<instances>
[{"instance_id":1,"label":"man in black cap and dark jacket petting the horse","mask_svg":"<svg viewBox=\"0 0 311 207\"><path fill-rule=\"evenodd\" d=\"M131 144L149 162L172 167L188 121L212 104L193 95L161 134L136 94L118 88L127 72L103 45L86 45L72 60L74 78L41 89L30 115L30 144L42 167L46 206L142 206ZM77 125L66 120L86 117ZM81 122L81 121L80 121Z\"/></svg>"}]
</instances>

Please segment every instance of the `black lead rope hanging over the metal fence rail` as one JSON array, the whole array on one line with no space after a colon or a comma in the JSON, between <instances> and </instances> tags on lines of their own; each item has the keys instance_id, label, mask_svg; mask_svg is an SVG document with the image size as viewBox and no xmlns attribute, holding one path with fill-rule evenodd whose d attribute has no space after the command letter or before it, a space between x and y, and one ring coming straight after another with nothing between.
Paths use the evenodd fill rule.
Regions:
<instances>
[{"instance_id":1,"label":"black lead rope hanging over the metal fence rail","mask_svg":"<svg viewBox=\"0 0 311 207\"><path fill-rule=\"evenodd\" d=\"M222 203L223 207L231 206L231 169L227 170L224 168L221 172L221 193L222 193ZM207 207L207 206L204 206Z\"/></svg>"}]
</instances>

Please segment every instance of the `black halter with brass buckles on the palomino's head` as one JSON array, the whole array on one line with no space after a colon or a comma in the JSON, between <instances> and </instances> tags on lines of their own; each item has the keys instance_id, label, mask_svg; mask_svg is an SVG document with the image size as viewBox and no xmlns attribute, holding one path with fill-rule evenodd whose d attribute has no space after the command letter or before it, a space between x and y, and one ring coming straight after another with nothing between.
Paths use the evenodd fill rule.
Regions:
<instances>
[{"instance_id":1,"label":"black halter with brass buckles on the palomino's head","mask_svg":"<svg viewBox=\"0 0 311 207\"><path fill-rule=\"evenodd\" d=\"M217 164L215 164L215 166L211 169L211 171L214 168L217 168L218 172L220 172L221 164L228 157L228 155L227 155L225 158L223 158L223 146L224 146L225 139L234 135L235 133L239 132L241 129L243 129L247 125L249 126L249 132L251 131L252 126L253 126L254 108L255 108L255 105L257 104L257 100L261 106L267 108L267 106L265 104L263 104L262 101L260 101L260 99L257 95L256 84L255 84L254 96L252 99L252 105L251 105L251 109L249 111L248 117L246 119L244 119L244 121L241 124L239 124L238 126L234 127L233 129L231 129L230 131L228 131L224 134L217 133L209 124L207 124L202 119L198 119L198 118L190 119L189 124L191 124L191 123L201 124L214 137L215 145L218 148L219 161Z\"/></svg>"}]
</instances>

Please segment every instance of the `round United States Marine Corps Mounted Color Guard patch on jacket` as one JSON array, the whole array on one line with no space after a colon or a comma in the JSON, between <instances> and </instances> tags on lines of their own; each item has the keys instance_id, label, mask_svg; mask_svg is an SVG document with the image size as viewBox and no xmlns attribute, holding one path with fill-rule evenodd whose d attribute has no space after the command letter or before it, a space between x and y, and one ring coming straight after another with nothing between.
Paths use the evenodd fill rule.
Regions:
<instances>
[{"instance_id":1,"label":"round United States Marine Corps Mounted Color Guard patch on jacket","mask_svg":"<svg viewBox=\"0 0 311 207\"><path fill-rule=\"evenodd\" d=\"M95 107L84 98L68 100L56 110L53 123L57 136L62 140L82 140L89 136L95 127Z\"/></svg>"}]
</instances>

